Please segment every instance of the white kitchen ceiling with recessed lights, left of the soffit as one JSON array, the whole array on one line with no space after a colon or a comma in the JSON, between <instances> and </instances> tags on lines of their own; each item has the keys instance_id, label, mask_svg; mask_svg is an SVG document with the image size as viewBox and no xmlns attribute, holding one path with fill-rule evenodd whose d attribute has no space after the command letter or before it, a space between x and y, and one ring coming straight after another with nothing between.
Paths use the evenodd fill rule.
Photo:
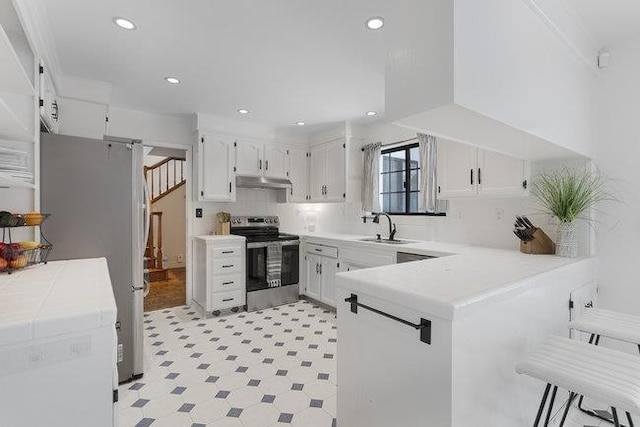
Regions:
<instances>
[{"instance_id":1,"label":"white kitchen ceiling with recessed lights, left of the soffit","mask_svg":"<svg viewBox=\"0 0 640 427\"><path fill-rule=\"evenodd\" d=\"M384 29L364 25L384 0L43 3L62 71L111 83L117 106L274 127L384 115Z\"/></svg>"}]
</instances>

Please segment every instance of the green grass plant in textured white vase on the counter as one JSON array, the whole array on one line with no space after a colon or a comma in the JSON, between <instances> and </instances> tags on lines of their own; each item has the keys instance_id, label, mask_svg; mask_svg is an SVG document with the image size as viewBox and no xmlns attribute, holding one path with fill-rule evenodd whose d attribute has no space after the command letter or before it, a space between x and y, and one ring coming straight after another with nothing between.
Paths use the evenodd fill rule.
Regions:
<instances>
[{"instance_id":1,"label":"green grass plant in textured white vase on the counter","mask_svg":"<svg viewBox=\"0 0 640 427\"><path fill-rule=\"evenodd\" d=\"M556 254L578 256L576 220L592 221L585 213L598 202L611 200L605 181L599 172L563 168L538 176L533 195L540 205L560 220L556 239Z\"/></svg>"}]
</instances>

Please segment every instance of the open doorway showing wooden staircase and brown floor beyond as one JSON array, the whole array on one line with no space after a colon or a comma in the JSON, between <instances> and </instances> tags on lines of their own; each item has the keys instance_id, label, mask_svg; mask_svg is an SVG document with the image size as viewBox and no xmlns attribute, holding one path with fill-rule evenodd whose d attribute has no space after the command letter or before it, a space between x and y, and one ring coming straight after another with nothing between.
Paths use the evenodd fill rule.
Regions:
<instances>
[{"instance_id":1,"label":"open doorway showing wooden staircase and brown floor beyond","mask_svg":"<svg viewBox=\"0 0 640 427\"><path fill-rule=\"evenodd\" d=\"M144 147L148 232L145 241L144 311L185 305L187 300L187 150Z\"/></svg>"}]
</instances>

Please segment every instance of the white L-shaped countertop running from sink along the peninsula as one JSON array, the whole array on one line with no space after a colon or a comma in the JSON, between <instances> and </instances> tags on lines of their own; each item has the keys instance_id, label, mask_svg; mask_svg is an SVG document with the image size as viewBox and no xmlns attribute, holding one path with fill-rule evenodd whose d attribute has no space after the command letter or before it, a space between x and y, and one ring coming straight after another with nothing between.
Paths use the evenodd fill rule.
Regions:
<instances>
[{"instance_id":1,"label":"white L-shaped countertop running from sink along the peninsula","mask_svg":"<svg viewBox=\"0 0 640 427\"><path fill-rule=\"evenodd\" d=\"M445 319L462 317L483 304L526 291L529 280L558 268L590 262L590 258L527 255L519 251L415 242L406 245L360 242L371 236L335 233L306 234L307 241L324 240L361 248L441 255L439 258L355 270L337 275L336 284L426 311ZM445 255L445 256L442 256Z\"/></svg>"}]
</instances>

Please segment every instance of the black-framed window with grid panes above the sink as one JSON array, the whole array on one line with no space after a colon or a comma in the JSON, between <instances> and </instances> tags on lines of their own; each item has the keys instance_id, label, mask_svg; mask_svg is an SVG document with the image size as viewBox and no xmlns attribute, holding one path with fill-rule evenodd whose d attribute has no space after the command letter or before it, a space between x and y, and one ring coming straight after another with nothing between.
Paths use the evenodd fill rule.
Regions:
<instances>
[{"instance_id":1,"label":"black-framed window with grid panes above the sink","mask_svg":"<svg viewBox=\"0 0 640 427\"><path fill-rule=\"evenodd\" d=\"M389 214L421 213L420 154L418 144L382 150L380 207Z\"/></svg>"}]
</instances>

